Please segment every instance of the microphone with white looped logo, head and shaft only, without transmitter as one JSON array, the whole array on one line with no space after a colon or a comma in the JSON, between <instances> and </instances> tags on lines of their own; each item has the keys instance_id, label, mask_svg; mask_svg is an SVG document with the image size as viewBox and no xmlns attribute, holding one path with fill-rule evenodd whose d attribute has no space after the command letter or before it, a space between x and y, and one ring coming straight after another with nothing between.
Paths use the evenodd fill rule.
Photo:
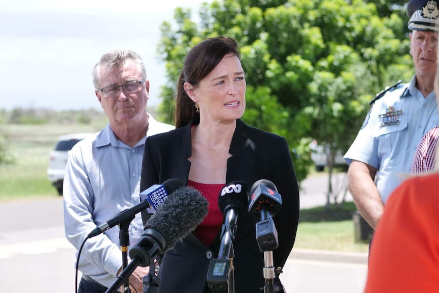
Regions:
<instances>
[{"instance_id":1,"label":"microphone with white looped logo, head and shaft only, without transmitter","mask_svg":"<svg viewBox=\"0 0 439 293\"><path fill-rule=\"evenodd\" d=\"M218 258L228 258L236 234L236 222L249 204L249 187L244 181L232 181L221 190L218 197L219 210L225 216L221 231Z\"/></svg>"}]
</instances>

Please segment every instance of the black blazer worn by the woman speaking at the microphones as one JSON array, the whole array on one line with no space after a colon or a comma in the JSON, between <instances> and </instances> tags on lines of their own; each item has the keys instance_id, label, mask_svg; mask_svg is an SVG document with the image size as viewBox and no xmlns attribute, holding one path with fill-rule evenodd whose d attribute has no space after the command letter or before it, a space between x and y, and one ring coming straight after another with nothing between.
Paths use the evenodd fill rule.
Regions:
<instances>
[{"instance_id":1,"label":"black blazer worn by the woman speaking at the microphones","mask_svg":"<svg viewBox=\"0 0 439 293\"><path fill-rule=\"evenodd\" d=\"M187 184L191 156L190 127L148 137L143 156L141 190L171 178ZM274 267L283 267L293 247L299 219L299 191L285 138L250 127L237 120L227 162L226 183L245 181L249 189L259 179L275 183L282 196L282 206L274 218L279 248L273 250ZM190 212L190 211L188 211ZM144 224L149 218L142 213ZM237 293L259 293L265 285L264 254L256 242L255 224L260 216L246 212L237 222L233 242L234 284ZM159 292L203 293L207 289L210 259L218 257L219 234L210 247L190 234L172 250L164 253L159 270ZM213 254L213 255L212 255ZM277 277L275 282L280 282Z\"/></svg>"}]
</instances>

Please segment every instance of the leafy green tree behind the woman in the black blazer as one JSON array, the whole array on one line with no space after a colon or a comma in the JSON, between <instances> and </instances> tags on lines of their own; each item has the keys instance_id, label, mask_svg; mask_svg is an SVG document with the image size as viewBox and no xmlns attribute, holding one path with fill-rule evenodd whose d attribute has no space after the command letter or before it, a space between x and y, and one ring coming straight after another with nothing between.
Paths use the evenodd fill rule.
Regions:
<instances>
[{"instance_id":1,"label":"leafy green tree behind the woman in the black blazer","mask_svg":"<svg viewBox=\"0 0 439 293\"><path fill-rule=\"evenodd\" d=\"M242 119L287 139L299 181L310 169L311 139L330 147L331 173L336 151L355 138L368 102L414 73L400 1L223 0L203 4L199 18L196 23L189 9L177 8L174 22L160 26L158 54L168 78L161 114L172 121L174 89L190 47L208 37L233 37L248 85ZM331 185L328 191L329 202Z\"/></svg>"}]
</instances>

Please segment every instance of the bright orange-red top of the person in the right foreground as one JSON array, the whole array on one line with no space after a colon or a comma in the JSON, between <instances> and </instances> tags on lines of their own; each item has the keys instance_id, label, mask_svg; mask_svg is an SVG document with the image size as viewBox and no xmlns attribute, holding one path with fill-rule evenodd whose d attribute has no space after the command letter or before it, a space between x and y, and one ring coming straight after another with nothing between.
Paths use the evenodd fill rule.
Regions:
<instances>
[{"instance_id":1,"label":"bright orange-red top of the person in the right foreground","mask_svg":"<svg viewBox=\"0 0 439 293\"><path fill-rule=\"evenodd\" d=\"M439 173L389 197L373 236L365 293L439 292Z\"/></svg>"}]
</instances>

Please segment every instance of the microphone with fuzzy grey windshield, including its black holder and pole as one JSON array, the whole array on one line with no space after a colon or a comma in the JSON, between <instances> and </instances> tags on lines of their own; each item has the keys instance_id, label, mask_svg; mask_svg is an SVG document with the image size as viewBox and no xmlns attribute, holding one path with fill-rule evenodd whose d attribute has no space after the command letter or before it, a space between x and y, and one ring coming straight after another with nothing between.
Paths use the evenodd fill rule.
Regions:
<instances>
[{"instance_id":1,"label":"microphone with fuzzy grey windshield, including its black holder and pole","mask_svg":"<svg viewBox=\"0 0 439 293\"><path fill-rule=\"evenodd\" d=\"M147 267L174 248L203 221L208 205L207 199L191 187L181 187L171 194L148 219L139 242L129 251L130 263L105 292L115 292L139 265Z\"/></svg>"}]
</instances>

